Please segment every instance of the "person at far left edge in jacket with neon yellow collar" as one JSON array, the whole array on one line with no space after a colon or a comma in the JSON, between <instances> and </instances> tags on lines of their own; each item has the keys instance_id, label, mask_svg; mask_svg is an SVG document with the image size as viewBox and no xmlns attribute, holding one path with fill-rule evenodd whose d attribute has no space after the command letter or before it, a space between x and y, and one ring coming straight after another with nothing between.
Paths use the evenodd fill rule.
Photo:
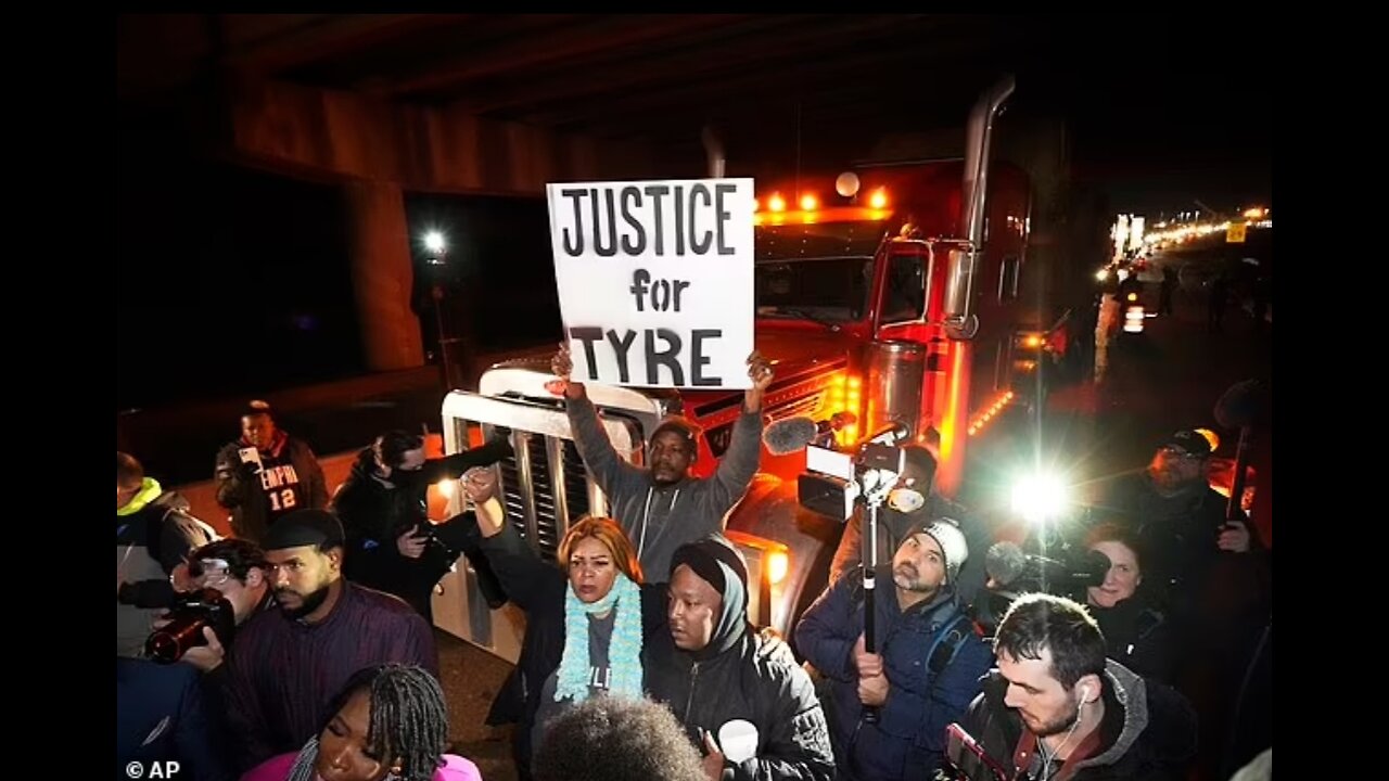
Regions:
<instances>
[{"instance_id":1,"label":"person at far left edge in jacket with neon yellow collar","mask_svg":"<svg viewBox=\"0 0 1389 781\"><path fill-rule=\"evenodd\" d=\"M144 475L140 461L115 453L115 655L143 656L160 611L174 603L183 556L214 539L188 513L188 499Z\"/></svg>"}]
</instances>

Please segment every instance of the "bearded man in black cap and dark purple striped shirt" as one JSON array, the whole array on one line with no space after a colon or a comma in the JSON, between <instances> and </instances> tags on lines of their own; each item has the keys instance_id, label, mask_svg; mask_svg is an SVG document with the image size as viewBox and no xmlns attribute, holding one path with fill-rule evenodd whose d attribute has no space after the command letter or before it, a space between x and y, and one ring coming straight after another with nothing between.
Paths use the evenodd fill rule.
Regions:
<instances>
[{"instance_id":1,"label":"bearded man in black cap and dark purple striped shirt","mask_svg":"<svg viewBox=\"0 0 1389 781\"><path fill-rule=\"evenodd\" d=\"M438 675L433 630L400 599L344 581L343 542L342 524L325 510L289 513L265 535L279 609L240 627L226 664L239 770L303 748L363 667L396 661Z\"/></svg>"}]
</instances>

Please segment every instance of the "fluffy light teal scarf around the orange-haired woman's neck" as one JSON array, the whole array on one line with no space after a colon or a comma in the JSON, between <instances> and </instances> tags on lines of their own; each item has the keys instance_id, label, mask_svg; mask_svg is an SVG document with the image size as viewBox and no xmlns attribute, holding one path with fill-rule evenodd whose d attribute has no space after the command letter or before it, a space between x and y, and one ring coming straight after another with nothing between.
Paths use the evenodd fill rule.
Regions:
<instances>
[{"instance_id":1,"label":"fluffy light teal scarf around the orange-haired woman's neck","mask_svg":"<svg viewBox=\"0 0 1389 781\"><path fill-rule=\"evenodd\" d=\"M592 605L579 602L572 586L564 592L564 656L560 657L554 687L556 702L565 698L574 702L589 699L589 616L608 610L617 610L613 642L608 646L608 663L613 666L608 693L628 699L642 698L642 591L631 578L618 573L613 589Z\"/></svg>"}]
</instances>

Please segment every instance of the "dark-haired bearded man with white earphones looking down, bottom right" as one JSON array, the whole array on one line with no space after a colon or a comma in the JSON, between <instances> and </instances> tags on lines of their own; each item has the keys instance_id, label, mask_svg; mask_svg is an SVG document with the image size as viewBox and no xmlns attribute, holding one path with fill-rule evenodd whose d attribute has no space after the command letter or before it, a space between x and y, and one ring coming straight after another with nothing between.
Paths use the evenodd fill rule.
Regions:
<instances>
[{"instance_id":1,"label":"dark-haired bearded man with white earphones looking down, bottom right","mask_svg":"<svg viewBox=\"0 0 1389 781\"><path fill-rule=\"evenodd\" d=\"M1015 778L1186 777L1196 753L1190 705L1106 659L1100 627L1079 603L1049 593L1018 598L993 650L997 668L970 705L964 730Z\"/></svg>"}]
</instances>

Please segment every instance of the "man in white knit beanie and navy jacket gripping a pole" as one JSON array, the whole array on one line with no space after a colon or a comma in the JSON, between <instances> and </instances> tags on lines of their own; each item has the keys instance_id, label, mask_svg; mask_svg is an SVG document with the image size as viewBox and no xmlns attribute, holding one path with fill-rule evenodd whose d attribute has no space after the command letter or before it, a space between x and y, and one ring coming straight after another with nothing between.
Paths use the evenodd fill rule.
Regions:
<instances>
[{"instance_id":1,"label":"man in white knit beanie and navy jacket gripping a pole","mask_svg":"<svg viewBox=\"0 0 1389 781\"><path fill-rule=\"evenodd\" d=\"M829 682L821 699L840 778L926 780L940 766L946 725L964 714L993 661L954 592L968 556L949 520L907 529L875 578L893 588L874 600L874 653L864 650L858 568L821 593L797 624L796 648Z\"/></svg>"}]
</instances>

